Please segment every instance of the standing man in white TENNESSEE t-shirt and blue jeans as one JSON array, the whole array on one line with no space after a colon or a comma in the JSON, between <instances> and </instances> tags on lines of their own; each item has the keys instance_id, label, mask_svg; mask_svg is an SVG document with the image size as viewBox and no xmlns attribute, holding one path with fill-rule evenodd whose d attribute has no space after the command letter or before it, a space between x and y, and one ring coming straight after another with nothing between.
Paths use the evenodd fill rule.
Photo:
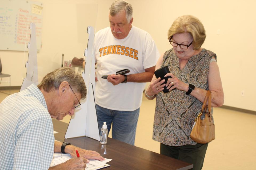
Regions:
<instances>
[{"instance_id":1,"label":"standing man in white TENNESSEE t-shirt and blue jeans","mask_svg":"<svg viewBox=\"0 0 256 170\"><path fill-rule=\"evenodd\" d=\"M99 130L112 124L112 138L134 145L145 82L150 82L159 52L146 31L132 25L132 7L125 1L110 6L110 27L95 34L96 110ZM127 75L113 73L129 69ZM101 78L109 74L107 79Z\"/></svg>"}]
</instances>

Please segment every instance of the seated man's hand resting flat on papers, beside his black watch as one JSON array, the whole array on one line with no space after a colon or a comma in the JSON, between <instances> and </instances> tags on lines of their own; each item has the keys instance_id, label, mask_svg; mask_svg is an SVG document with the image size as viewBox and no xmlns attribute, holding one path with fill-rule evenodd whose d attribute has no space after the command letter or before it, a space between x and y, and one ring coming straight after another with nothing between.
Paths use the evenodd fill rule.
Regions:
<instances>
[{"instance_id":1,"label":"seated man's hand resting flat on papers, beside his black watch","mask_svg":"<svg viewBox=\"0 0 256 170\"><path fill-rule=\"evenodd\" d=\"M65 152L69 153L72 158L77 157L77 154L75 150L78 150L80 157L86 158L86 159L96 159L99 161L105 160L98 152L95 151L89 151L85 149L81 149L79 147L76 147L74 145L66 145ZM89 160L88 160L89 161Z\"/></svg>"}]
</instances>

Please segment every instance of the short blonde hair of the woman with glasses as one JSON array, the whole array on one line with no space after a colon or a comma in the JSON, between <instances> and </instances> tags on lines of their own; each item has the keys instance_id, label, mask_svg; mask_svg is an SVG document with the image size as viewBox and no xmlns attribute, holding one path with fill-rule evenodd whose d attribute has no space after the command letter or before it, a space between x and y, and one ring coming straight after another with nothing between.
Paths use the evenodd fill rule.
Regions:
<instances>
[{"instance_id":1,"label":"short blonde hair of the woman with glasses","mask_svg":"<svg viewBox=\"0 0 256 170\"><path fill-rule=\"evenodd\" d=\"M168 39L174 34L188 32L193 37L193 49L199 50L205 41L205 28L201 21L192 15L179 16L168 30Z\"/></svg>"}]
</instances>

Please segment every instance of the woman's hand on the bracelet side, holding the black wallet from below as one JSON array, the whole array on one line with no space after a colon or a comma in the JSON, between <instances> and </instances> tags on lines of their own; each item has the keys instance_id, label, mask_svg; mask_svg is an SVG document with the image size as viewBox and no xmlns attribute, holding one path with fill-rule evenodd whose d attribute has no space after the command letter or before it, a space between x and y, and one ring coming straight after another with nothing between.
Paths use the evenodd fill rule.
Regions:
<instances>
[{"instance_id":1,"label":"woman's hand on the bracelet side, holding the black wallet from below","mask_svg":"<svg viewBox=\"0 0 256 170\"><path fill-rule=\"evenodd\" d=\"M165 87L165 84L163 84L164 82L165 82L165 80L164 79L161 80L160 77L151 81L149 87L147 88L147 95L153 96L153 95L156 95L159 92L163 91L163 87Z\"/></svg>"}]
</instances>

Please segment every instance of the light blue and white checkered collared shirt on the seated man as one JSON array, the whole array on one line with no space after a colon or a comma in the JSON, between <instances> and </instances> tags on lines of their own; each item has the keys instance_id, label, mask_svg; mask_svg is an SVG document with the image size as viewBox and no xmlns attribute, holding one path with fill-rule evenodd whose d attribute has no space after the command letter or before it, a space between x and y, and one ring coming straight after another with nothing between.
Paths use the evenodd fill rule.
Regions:
<instances>
[{"instance_id":1,"label":"light blue and white checkered collared shirt on the seated man","mask_svg":"<svg viewBox=\"0 0 256 170\"><path fill-rule=\"evenodd\" d=\"M48 169L53 158L53 123L34 84L0 104L0 169Z\"/></svg>"}]
</instances>

